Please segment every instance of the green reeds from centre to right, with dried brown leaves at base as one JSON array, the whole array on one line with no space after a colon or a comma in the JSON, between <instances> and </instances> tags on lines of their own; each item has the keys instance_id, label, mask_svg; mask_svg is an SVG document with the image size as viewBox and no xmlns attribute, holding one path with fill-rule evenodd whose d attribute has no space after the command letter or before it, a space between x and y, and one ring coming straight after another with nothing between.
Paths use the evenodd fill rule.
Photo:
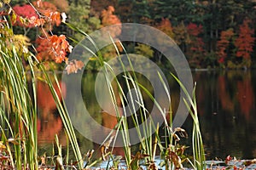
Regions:
<instances>
[{"instance_id":1,"label":"green reeds from centre to right, with dried brown leaves at base","mask_svg":"<svg viewBox=\"0 0 256 170\"><path fill-rule=\"evenodd\" d=\"M118 77L115 77L113 67L105 62L105 59L103 58L104 54L102 54L101 50L98 49L96 42L94 42L90 35L70 24L67 24L67 26L70 26L75 31L79 31L86 38L86 41L90 42L90 45L92 45L92 48L96 49L96 52L94 52L93 49L84 46L83 42L81 42L82 44L79 43L78 45L90 53L92 56L91 59L97 61L99 65L102 66L102 73L104 76L103 81L106 81L108 94L110 95L110 100L108 100L108 102L112 103L117 119L117 124L115 127L113 127L113 131L111 131L107 138L102 142L102 147L109 147L109 143L113 143L114 146L118 136L121 135L123 148L125 151L125 162L127 167L130 169L139 168L142 160L144 165L154 166L154 157L157 148L160 149L160 155L165 156L165 165L167 168L183 167L182 162L188 161L192 167L202 169L204 167L205 156L201 139L200 123L196 110L195 89L192 96L190 96L186 88L184 88L182 82L175 77L185 94L186 99L183 99L183 101L188 106L188 111L194 122L192 135L194 159L192 162L188 159L188 157L184 157L183 155L183 151L185 150L186 146L178 144L179 140L177 139L177 133L183 133L184 135L186 134L185 131L180 127L172 129L171 108L162 108L157 99L155 99L154 95L139 82L136 71L134 70L134 65L132 65L131 62L132 56L131 54L127 54L125 52L123 45L119 42L119 46L122 46L122 51L125 52L125 55L119 54L119 48L117 47L116 42L113 41L113 37L107 37L111 39L113 48L115 48L118 56L117 62L119 62L121 67L119 69L122 71L122 79L120 80ZM172 76L174 77L173 74ZM166 89L165 95L171 96L167 90L167 84L164 82L160 73L158 74L158 78L163 88ZM131 92L134 92L134 94L131 94ZM125 95L126 93L128 94L127 96ZM148 95L149 99L151 99L154 102L154 105L157 106L160 116L163 116L166 131L166 146L161 144L161 139L158 133L159 127L157 124L155 124L144 104L143 93ZM127 105L128 103L129 105ZM171 103L171 100L169 103ZM139 108L136 110L137 105L139 105ZM191 109L190 105L192 105ZM119 106L121 108L126 107L127 109L119 110ZM166 120L166 112L170 114L170 122L167 122ZM129 122L128 116L131 116L132 122ZM139 139L140 150L137 150L137 154L135 156L132 156L133 153L131 151L131 135L135 134L130 133L130 127L136 128L136 138ZM152 135L153 133L154 135ZM183 150L182 154L180 153L181 150ZM103 151L102 154L107 155L107 152Z\"/></svg>"}]
</instances>

